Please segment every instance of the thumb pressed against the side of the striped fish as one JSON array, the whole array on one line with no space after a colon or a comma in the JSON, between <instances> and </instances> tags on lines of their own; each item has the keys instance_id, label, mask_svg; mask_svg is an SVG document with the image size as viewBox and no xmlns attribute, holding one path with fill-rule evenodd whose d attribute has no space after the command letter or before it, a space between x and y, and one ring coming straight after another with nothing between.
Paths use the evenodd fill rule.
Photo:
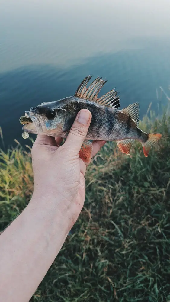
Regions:
<instances>
[{"instance_id":1,"label":"thumb pressed against the side of the striped fish","mask_svg":"<svg viewBox=\"0 0 170 302\"><path fill-rule=\"evenodd\" d=\"M65 147L76 155L79 154L82 143L85 140L90 122L91 112L87 109L80 110L66 138Z\"/></svg>"}]
</instances>

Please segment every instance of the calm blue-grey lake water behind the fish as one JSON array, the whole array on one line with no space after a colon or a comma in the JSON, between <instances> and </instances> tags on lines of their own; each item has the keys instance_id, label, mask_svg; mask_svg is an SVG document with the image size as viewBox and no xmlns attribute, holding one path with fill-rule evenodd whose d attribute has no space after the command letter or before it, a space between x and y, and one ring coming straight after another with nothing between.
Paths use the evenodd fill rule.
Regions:
<instances>
[{"instance_id":1,"label":"calm blue-grey lake water behind the fish","mask_svg":"<svg viewBox=\"0 0 170 302\"><path fill-rule=\"evenodd\" d=\"M73 95L88 74L116 88L140 117L170 96L169 0L0 0L0 126L5 145L22 137L19 118ZM156 93L157 89L157 93Z\"/></svg>"}]
</instances>

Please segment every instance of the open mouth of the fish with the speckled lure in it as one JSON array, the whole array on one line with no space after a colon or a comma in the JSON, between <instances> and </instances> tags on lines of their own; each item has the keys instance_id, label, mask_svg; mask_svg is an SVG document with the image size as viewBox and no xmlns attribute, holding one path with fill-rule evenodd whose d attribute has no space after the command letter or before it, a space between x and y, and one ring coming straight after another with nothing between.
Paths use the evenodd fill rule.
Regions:
<instances>
[{"instance_id":1,"label":"open mouth of the fish with the speckled lure in it","mask_svg":"<svg viewBox=\"0 0 170 302\"><path fill-rule=\"evenodd\" d=\"M25 111L25 116L20 117L20 123L23 124L22 130L24 132L35 134L43 132L41 123L33 111Z\"/></svg>"}]
</instances>

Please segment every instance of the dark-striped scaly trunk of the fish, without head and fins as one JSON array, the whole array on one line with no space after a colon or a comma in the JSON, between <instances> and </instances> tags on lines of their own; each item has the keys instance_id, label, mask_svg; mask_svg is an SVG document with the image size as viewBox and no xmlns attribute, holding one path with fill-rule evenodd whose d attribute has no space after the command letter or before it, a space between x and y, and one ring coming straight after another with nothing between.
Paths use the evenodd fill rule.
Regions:
<instances>
[{"instance_id":1,"label":"dark-striped scaly trunk of the fish, without head and fins","mask_svg":"<svg viewBox=\"0 0 170 302\"><path fill-rule=\"evenodd\" d=\"M74 96L63 99L63 102L66 102L63 108L66 108L68 112L63 125L63 132L67 132L71 128L75 116L84 108L91 111L92 114L86 136L87 140L121 141L133 139L145 143L148 138L147 134L140 130L133 119L122 110ZM75 112L73 118L70 117L69 106Z\"/></svg>"}]
</instances>

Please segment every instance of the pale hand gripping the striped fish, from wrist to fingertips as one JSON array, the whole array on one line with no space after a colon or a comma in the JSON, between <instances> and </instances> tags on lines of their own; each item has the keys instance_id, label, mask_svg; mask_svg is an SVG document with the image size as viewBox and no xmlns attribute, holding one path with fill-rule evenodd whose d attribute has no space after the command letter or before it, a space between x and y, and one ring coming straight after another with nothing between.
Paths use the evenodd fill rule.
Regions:
<instances>
[{"instance_id":1,"label":"pale hand gripping the striped fish, from wrist to fingertips","mask_svg":"<svg viewBox=\"0 0 170 302\"><path fill-rule=\"evenodd\" d=\"M32 147L34 172L33 200L40 200L69 218L69 230L77 220L85 200L85 171L89 162L79 157L91 122L91 112L82 109L62 146L62 138L38 135ZM91 157L106 141L92 143ZM51 205L52 204L52 205Z\"/></svg>"}]
</instances>

